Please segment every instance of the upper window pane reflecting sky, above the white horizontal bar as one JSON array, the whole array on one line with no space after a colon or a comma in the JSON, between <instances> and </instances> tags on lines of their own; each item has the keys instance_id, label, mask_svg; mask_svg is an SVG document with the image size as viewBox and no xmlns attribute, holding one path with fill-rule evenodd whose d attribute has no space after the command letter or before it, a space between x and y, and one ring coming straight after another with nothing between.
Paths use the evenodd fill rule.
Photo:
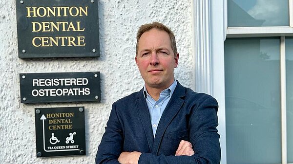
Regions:
<instances>
[{"instance_id":1,"label":"upper window pane reflecting sky, above the white horizontal bar","mask_svg":"<svg viewBox=\"0 0 293 164\"><path fill-rule=\"evenodd\" d=\"M228 26L289 26L288 0L228 0Z\"/></svg>"}]
</instances>

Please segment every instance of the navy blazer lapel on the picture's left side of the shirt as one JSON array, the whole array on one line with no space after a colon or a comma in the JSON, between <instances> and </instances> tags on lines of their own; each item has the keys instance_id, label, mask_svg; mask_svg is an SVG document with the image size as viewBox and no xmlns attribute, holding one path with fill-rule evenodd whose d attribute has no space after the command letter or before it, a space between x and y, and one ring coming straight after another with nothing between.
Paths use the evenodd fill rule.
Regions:
<instances>
[{"instance_id":1,"label":"navy blazer lapel on the picture's left side of the shirt","mask_svg":"<svg viewBox=\"0 0 293 164\"><path fill-rule=\"evenodd\" d=\"M149 111L146 105L146 100L144 97L143 90L139 91L138 93L138 99L135 101L136 104L136 109L138 112L138 115L142 121L145 133L146 133L146 138L149 146L149 150L151 151L153 141L154 141L154 136L151 128L151 122L150 122L150 115Z\"/></svg>"}]
</instances>

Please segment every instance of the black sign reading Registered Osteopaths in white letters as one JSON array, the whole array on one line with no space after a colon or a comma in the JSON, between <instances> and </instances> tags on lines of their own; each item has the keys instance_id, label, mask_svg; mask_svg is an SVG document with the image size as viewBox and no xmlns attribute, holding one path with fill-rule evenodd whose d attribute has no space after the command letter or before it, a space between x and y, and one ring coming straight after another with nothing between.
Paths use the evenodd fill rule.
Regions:
<instances>
[{"instance_id":1,"label":"black sign reading Registered Osteopaths in white letters","mask_svg":"<svg viewBox=\"0 0 293 164\"><path fill-rule=\"evenodd\" d=\"M101 100L100 72L20 73L21 103Z\"/></svg>"}]
</instances>

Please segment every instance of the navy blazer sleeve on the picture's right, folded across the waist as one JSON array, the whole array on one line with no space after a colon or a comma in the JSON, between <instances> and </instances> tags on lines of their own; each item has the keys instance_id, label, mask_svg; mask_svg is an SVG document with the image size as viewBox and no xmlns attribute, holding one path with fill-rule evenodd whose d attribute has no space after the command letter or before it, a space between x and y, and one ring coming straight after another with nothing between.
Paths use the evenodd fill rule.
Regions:
<instances>
[{"instance_id":1,"label":"navy blazer sleeve on the picture's right, folded across the waist","mask_svg":"<svg viewBox=\"0 0 293 164\"><path fill-rule=\"evenodd\" d=\"M221 149L217 133L218 103L209 97L197 107L191 107L189 118L189 142L195 154L193 156L156 156L142 153L138 164L220 164Z\"/></svg>"}]
</instances>

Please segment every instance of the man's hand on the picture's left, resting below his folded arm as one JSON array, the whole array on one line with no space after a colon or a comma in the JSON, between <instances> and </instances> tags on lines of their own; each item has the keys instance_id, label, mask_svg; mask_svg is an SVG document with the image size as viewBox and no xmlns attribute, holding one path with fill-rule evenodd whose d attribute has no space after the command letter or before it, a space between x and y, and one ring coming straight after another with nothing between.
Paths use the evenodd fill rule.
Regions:
<instances>
[{"instance_id":1,"label":"man's hand on the picture's left, resting below his folded arm","mask_svg":"<svg viewBox=\"0 0 293 164\"><path fill-rule=\"evenodd\" d=\"M138 164L139 157L142 153L138 151L122 152L118 158L120 164Z\"/></svg>"}]
</instances>

